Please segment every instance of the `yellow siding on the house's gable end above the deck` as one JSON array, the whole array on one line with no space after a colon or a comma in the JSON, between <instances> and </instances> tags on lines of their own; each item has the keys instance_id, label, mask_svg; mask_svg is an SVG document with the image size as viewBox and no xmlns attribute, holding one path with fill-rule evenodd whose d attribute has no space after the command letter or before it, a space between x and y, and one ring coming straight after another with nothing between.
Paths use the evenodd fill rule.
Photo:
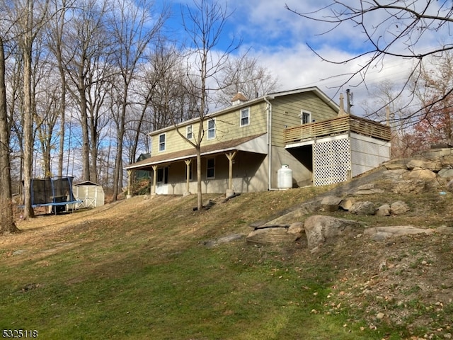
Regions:
<instances>
[{"instance_id":1,"label":"yellow siding on the house's gable end above the deck","mask_svg":"<svg viewBox=\"0 0 453 340\"><path fill-rule=\"evenodd\" d=\"M338 112L313 92L277 97L275 101L272 101L272 105L272 144L280 147L285 146L283 141L285 127L301 125L302 110L309 111L311 119L315 121L334 118L338 115Z\"/></svg>"}]
</instances>

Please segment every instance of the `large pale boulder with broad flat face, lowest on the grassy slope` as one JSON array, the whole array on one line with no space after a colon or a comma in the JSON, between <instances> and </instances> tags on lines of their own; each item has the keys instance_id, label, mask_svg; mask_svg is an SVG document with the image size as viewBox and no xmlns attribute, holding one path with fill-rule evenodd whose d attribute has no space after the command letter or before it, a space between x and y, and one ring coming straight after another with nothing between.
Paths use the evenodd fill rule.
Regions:
<instances>
[{"instance_id":1,"label":"large pale boulder with broad flat face, lowest on the grassy slope","mask_svg":"<svg viewBox=\"0 0 453 340\"><path fill-rule=\"evenodd\" d=\"M313 215L304 222L307 246L313 249L338 237L351 237L362 232L360 222L331 216Z\"/></svg>"}]
</instances>

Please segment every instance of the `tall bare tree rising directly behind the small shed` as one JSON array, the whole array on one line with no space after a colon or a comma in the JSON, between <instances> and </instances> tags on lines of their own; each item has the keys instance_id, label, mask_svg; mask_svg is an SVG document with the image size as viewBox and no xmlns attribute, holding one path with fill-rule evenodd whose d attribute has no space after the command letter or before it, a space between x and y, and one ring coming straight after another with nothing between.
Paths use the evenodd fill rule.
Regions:
<instances>
[{"instance_id":1,"label":"tall bare tree rising directly behind the small shed","mask_svg":"<svg viewBox=\"0 0 453 340\"><path fill-rule=\"evenodd\" d=\"M79 107L81 123L82 179L93 180L97 160L96 119L103 94L98 91L110 81L108 57L110 57L111 38L108 34L107 14L110 3L106 0L83 0L80 7L71 8L71 23L67 24L67 36L63 55L64 66L69 79L68 91ZM99 98L101 95L101 98ZM93 96L95 98L93 98ZM94 152L94 154L91 154ZM91 157L91 162L90 162ZM92 169L93 168L93 169Z\"/></svg>"}]
</instances>

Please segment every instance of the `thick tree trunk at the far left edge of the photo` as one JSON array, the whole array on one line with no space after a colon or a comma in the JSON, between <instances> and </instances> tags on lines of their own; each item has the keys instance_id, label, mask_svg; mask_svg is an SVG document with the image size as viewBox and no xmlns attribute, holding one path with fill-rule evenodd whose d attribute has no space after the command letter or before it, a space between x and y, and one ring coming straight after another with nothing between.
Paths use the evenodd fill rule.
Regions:
<instances>
[{"instance_id":1,"label":"thick tree trunk at the far left edge of the photo","mask_svg":"<svg viewBox=\"0 0 453 340\"><path fill-rule=\"evenodd\" d=\"M13 219L9 129L6 111L5 53L0 37L0 234L19 232Z\"/></svg>"}]
</instances>

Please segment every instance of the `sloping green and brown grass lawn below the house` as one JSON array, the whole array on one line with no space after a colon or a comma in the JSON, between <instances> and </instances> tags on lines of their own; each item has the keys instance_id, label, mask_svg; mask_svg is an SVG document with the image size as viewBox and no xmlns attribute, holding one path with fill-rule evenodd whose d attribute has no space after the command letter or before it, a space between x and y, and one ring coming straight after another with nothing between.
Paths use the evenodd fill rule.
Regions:
<instances>
[{"instance_id":1,"label":"sloping green and brown grass lawn below the house","mask_svg":"<svg viewBox=\"0 0 453 340\"><path fill-rule=\"evenodd\" d=\"M243 194L202 212L192 210L195 196L136 197L20 221L21 234L0 239L0 331L46 340L409 338L404 324L370 324L360 307L332 304L342 268L302 246L204 245L247 234L321 190Z\"/></svg>"}]
</instances>

